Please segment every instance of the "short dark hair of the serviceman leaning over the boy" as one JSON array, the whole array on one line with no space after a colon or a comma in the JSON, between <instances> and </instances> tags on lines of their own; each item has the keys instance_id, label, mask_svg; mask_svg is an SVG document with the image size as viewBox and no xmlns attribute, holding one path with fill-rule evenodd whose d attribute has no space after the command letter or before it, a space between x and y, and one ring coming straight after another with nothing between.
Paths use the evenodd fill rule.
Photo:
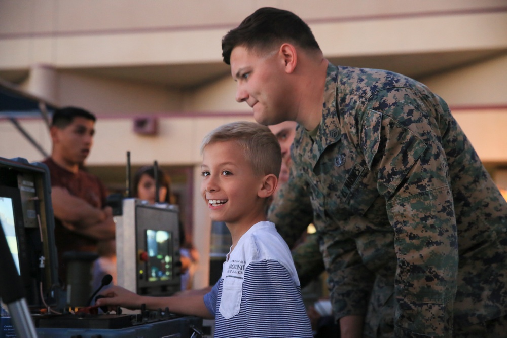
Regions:
<instances>
[{"instance_id":1,"label":"short dark hair of the serviceman leaning over the boy","mask_svg":"<svg viewBox=\"0 0 507 338\"><path fill-rule=\"evenodd\" d=\"M223 37L222 56L225 63L231 64L231 53L237 46L261 52L285 42L305 49L320 50L310 27L299 16L289 11L263 7Z\"/></svg>"}]
</instances>

